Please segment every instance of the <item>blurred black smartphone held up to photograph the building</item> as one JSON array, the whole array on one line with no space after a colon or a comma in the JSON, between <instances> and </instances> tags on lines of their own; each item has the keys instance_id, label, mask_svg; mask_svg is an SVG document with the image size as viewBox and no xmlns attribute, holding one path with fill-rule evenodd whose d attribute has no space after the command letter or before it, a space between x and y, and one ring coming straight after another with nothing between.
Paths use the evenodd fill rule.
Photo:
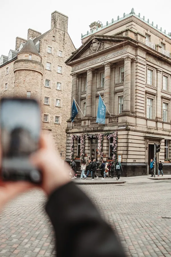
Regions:
<instances>
[{"instance_id":1,"label":"blurred black smartphone held up to photograph the building","mask_svg":"<svg viewBox=\"0 0 171 257\"><path fill-rule=\"evenodd\" d=\"M39 146L40 107L34 99L0 100L1 177L4 181L42 182L42 173L30 162Z\"/></svg>"}]
</instances>

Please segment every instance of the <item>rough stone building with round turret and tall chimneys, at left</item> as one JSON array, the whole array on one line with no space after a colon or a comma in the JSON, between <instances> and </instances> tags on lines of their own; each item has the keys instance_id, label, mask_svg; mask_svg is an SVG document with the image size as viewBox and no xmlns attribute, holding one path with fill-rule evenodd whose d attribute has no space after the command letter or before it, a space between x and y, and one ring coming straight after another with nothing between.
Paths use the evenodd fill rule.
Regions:
<instances>
[{"instance_id":1,"label":"rough stone building with round turret and tall chimneys, at left","mask_svg":"<svg viewBox=\"0 0 171 257\"><path fill-rule=\"evenodd\" d=\"M71 68L65 61L75 50L68 35L68 17L54 11L50 30L41 34L28 29L27 39L17 37L15 50L0 58L1 97L37 98L44 134L47 138L52 134L63 158L72 89Z\"/></svg>"}]
</instances>

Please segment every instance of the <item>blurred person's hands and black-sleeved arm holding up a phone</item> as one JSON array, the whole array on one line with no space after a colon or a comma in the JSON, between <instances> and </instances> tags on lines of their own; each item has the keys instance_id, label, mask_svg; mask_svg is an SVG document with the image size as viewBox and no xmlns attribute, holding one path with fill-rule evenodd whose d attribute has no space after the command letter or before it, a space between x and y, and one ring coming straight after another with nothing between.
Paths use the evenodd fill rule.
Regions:
<instances>
[{"instance_id":1,"label":"blurred person's hands and black-sleeved arm holding up a phone","mask_svg":"<svg viewBox=\"0 0 171 257\"><path fill-rule=\"evenodd\" d=\"M0 156L0 168L1 161ZM102 219L95 205L81 188L70 180L68 165L56 153L53 143L49 144L41 136L40 148L32 154L30 161L42 171L42 183L37 186L26 181L4 182L0 178L0 209L21 193L34 188L41 189L47 198L46 212L55 232L54 256L125 257L116 232ZM20 165L20 161L18 162ZM32 212L36 215L35 209ZM1 213L1 217L3 215ZM51 224L48 224L49 228Z\"/></svg>"}]
</instances>

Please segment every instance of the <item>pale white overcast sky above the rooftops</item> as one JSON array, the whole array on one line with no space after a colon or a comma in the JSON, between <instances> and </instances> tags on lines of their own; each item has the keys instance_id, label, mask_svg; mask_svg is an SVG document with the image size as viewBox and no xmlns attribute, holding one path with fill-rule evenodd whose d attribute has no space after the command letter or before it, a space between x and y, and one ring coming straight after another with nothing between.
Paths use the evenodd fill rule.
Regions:
<instances>
[{"instance_id":1,"label":"pale white overcast sky above the rooftops","mask_svg":"<svg viewBox=\"0 0 171 257\"><path fill-rule=\"evenodd\" d=\"M170 0L0 0L0 56L8 55L10 49L15 49L17 36L27 39L28 28L46 32L50 29L51 13L55 10L69 17L68 32L76 48L81 46L81 33L89 30L93 21L114 21L117 16L123 17L134 8L135 13L145 16L145 20L153 21L162 31L171 32Z\"/></svg>"}]
</instances>

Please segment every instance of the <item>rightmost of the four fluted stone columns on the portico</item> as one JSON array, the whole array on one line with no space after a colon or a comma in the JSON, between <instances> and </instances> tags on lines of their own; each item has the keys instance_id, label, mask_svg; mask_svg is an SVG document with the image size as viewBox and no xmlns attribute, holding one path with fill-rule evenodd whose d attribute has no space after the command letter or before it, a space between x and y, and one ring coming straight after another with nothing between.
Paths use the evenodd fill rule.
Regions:
<instances>
[{"instance_id":1,"label":"rightmost of the four fluted stone columns on the portico","mask_svg":"<svg viewBox=\"0 0 171 257\"><path fill-rule=\"evenodd\" d=\"M131 113L131 57L124 59L123 113Z\"/></svg>"}]
</instances>

